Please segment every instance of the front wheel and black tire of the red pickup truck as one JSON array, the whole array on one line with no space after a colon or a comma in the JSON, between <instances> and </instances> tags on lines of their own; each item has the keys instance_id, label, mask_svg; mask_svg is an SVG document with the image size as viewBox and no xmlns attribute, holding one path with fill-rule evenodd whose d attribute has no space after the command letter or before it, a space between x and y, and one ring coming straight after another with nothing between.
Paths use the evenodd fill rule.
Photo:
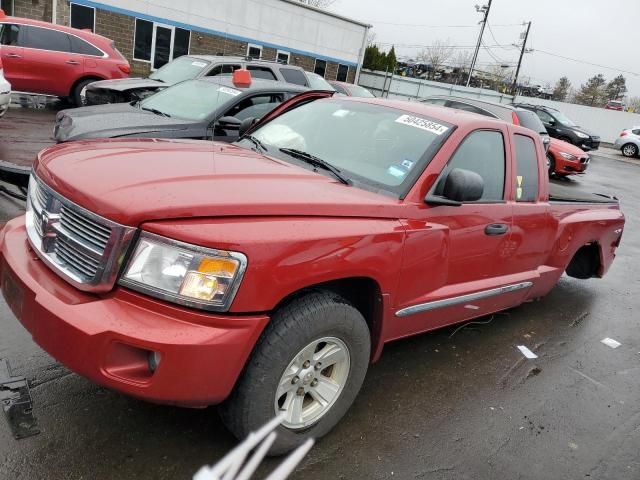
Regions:
<instances>
[{"instance_id":1,"label":"front wheel and black tire of the red pickup truck","mask_svg":"<svg viewBox=\"0 0 640 480\"><path fill-rule=\"evenodd\" d=\"M313 345L318 348L309 349L307 354L312 350L315 353L303 354ZM314 368L305 360L315 362L328 352L332 352L331 358L341 358L336 352L340 353L337 349L342 347L346 347L343 359L332 366ZM283 425L276 430L277 439L269 454L281 455L308 438L320 438L340 421L355 400L369 366L370 350L366 321L344 298L328 291L298 297L273 315L233 393L220 407L222 421L231 433L243 439L273 419L278 409L286 410L289 403L292 407L286 410ZM326 390L326 379L330 377L338 379L332 385L341 384L335 392ZM315 400L313 383L317 386L318 378L321 386L325 385L323 398L329 400L326 407ZM311 393L306 393L307 389ZM285 391L288 393L281 393ZM280 398L276 398L277 394ZM295 415L296 402L308 417ZM305 421L295 421L297 418Z\"/></svg>"}]
</instances>

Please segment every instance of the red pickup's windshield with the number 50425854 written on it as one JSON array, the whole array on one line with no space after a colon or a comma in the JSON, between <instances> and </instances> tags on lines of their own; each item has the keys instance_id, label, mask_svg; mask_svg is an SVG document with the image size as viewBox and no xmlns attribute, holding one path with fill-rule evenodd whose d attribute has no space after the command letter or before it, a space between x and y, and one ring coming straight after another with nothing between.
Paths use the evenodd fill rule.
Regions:
<instances>
[{"instance_id":1,"label":"red pickup's windshield with the number 50425854 written on it","mask_svg":"<svg viewBox=\"0 0 640 480\"><path fill-rule=\"evenodd\" d=\"M268 155L293 162L281 148L306 152L350 180L400 197L452 130L450 124L394 108L335 98L286 112L253 137Z\"/></svg>"}]
</instances>

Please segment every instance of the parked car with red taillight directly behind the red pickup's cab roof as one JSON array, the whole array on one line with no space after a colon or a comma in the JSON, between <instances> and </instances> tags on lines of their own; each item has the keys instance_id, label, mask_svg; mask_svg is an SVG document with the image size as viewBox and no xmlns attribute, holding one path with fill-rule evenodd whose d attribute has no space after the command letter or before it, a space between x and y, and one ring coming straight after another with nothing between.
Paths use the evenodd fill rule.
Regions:
<instances>
[{"instance_id":1,"label":"parked car with red taillight directly behind the red pickup's cab roof","mask_svg":"<svg viewBox=\"0 0 640 480\"><path fill-rule=\"evenodd\" d=\"M549 150L550 137L540 119L528 110L515 108L503 103L487 102L475 98L456 97L453 95L432 95L420 100L422 103L441 105L443 107L477 113L486 117L498 118L514 125L522 125L540 135L545 151Z\"/></svg>"}]
</instances>

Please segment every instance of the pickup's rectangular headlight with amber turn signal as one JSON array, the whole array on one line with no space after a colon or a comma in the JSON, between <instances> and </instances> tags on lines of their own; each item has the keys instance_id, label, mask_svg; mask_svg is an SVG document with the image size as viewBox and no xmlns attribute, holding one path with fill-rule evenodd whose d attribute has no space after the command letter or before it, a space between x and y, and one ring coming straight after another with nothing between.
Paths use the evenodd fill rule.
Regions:
<instances>
[{"instance_id":1,"label":"pickup's rectangular headlight with amber turn signal","mask_svg":"<svg viewBox=\"0 0 640 480\"><path fill-rule=\"evenodd\" d=\"M241 253L143 232L120 284L182 305L226 311L246 266L247 257Z\"/></svg>"}]
</instances>

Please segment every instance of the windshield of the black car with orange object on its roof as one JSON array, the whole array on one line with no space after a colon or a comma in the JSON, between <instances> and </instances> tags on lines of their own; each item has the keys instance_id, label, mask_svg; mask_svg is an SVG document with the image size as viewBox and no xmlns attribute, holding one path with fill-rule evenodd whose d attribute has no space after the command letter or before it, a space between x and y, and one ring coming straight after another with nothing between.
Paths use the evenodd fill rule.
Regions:
<instances>
[{"instance_id":1,"label":"windshield of the black car with orange object on its roof","mask_svg":"<svg viewBox=\"0 0 640 480\"><path fill-rule=\"evenodd\" d=\"M140 108L185 120L204 120L241 93L217 83L189 80L146 98Z\"/></svg>"}]
</instances>

